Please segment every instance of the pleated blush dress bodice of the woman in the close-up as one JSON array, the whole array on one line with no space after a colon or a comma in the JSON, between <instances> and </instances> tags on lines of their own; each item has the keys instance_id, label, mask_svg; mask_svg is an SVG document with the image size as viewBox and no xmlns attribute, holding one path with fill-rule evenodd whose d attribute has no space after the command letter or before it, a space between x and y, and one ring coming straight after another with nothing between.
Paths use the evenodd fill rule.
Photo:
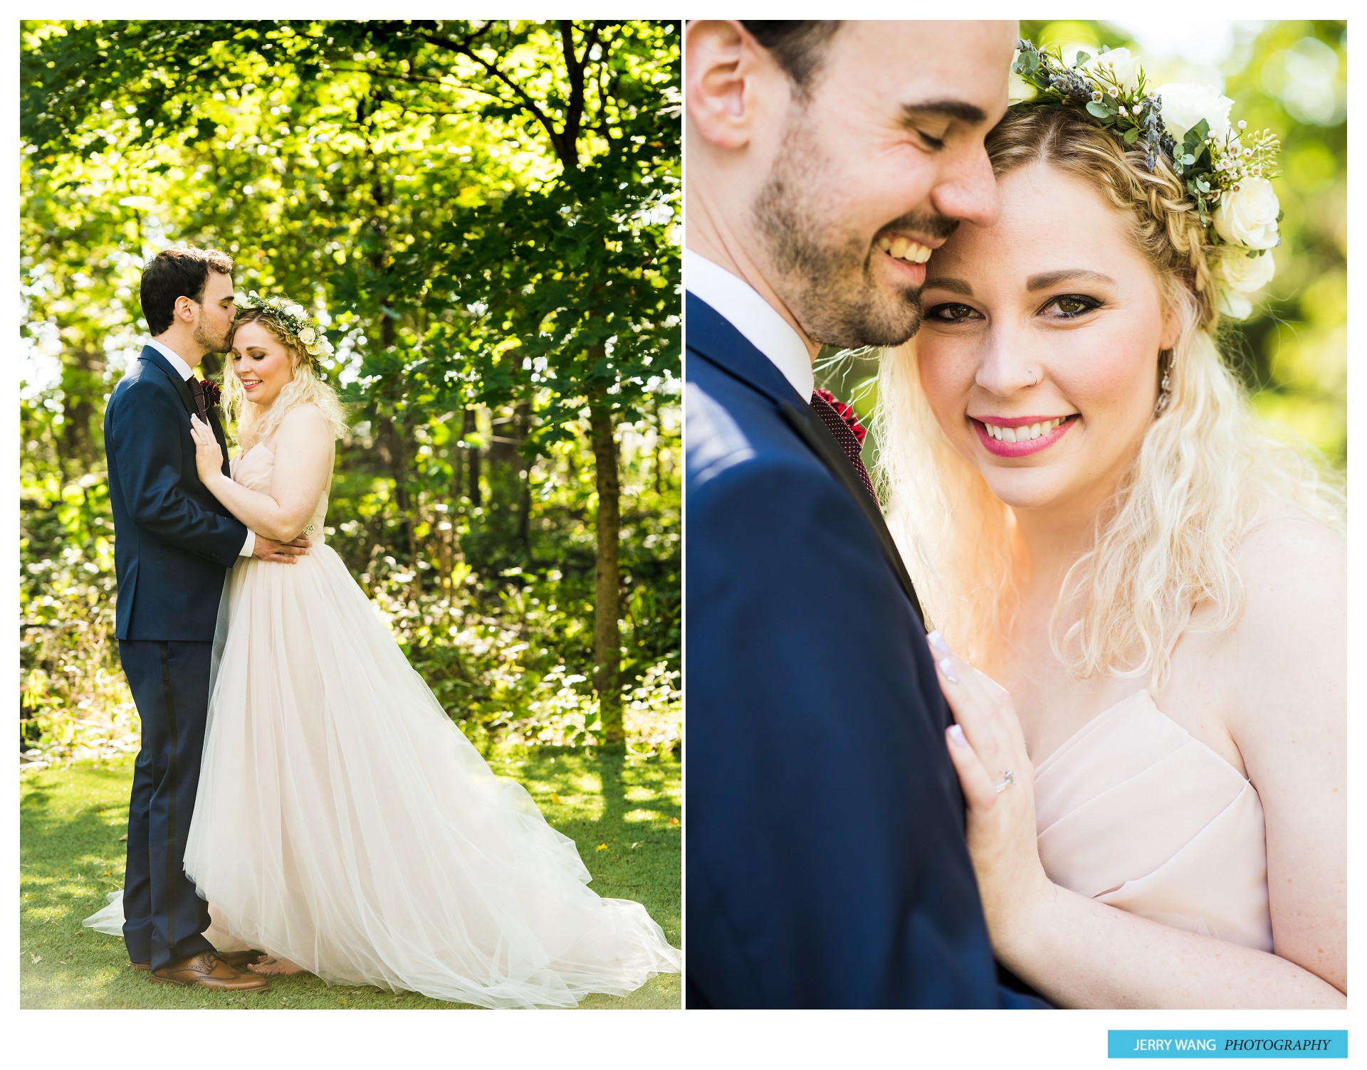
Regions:
<instances>
[{"instance_id":1,"label":"pleated blush dress bodice of the woman in the close-up","mask_svg":"<svg viewBox=\"0 0 1367 1070\"><path fill-rule=\"evenodd\" d=\"M1050 880L1174 928L1273 950L1258 791L1139 691L1035 768Z\"/></svg>"}]
</instances>

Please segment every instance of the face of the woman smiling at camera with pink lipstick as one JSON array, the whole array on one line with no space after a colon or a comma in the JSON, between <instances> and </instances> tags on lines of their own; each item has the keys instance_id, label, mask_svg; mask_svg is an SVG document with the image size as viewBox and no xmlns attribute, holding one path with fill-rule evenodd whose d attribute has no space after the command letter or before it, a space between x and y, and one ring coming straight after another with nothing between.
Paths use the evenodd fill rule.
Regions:
<instances>
[{"instance_id":1,"label":"face of the woman smiling at camera with pink lipstick","mask_svg":"<svg viewBox=\"0 0 1367 1070\"><path fill-rule=\"evenodd\" d=\"M1176 339L1158 277L1084 180L1031 164L991 227L930 261L921 388L954 448L1016 508L1096 507L1154 417Z\"/></svg>"}]
</instances>

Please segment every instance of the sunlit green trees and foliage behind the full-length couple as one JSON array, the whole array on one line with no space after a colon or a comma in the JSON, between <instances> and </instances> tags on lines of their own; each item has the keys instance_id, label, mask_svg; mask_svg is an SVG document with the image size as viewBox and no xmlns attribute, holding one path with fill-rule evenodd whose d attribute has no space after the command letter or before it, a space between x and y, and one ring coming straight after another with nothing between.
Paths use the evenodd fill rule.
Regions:
<instances>
[{"instance_id":1,"label":"sunlit green trees and foliage behind the full-length couple","mask_svg":"<svg viewBox=\"0 0 1367 1070\"><path fill-rule=\"evenodd\" d=\"M325 317L329 541L452 716L675 737L678 27L33 22L21 81L26 711L119 707L60 629L108 631L104 400L186 242Z\"/></svg>"}]
</instances>

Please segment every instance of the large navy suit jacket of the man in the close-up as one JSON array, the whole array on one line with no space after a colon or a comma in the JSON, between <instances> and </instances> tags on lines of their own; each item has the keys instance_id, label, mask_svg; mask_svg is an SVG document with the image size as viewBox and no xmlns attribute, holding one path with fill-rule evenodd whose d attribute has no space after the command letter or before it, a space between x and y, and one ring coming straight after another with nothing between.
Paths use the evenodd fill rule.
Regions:
<instances>
[{"instance_id":1,"label":"large navy suit jacket of the man in the close-up","mask_svg":"<svg viewBox=\"0 0 1367 1070\"><path fill-rule=\"evenodd\" d=\"M882 518L693 295L686 374L688 1006L1039 1006L998 984Z\"/></svg>"}]
</instances>

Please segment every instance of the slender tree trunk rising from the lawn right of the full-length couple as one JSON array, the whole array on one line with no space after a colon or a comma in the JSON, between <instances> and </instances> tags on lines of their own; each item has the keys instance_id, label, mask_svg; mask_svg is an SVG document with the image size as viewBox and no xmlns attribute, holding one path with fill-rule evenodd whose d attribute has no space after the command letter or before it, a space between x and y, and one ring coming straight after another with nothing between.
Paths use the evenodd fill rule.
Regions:
<instances>
[{"instance_id":1,"label":"slender tree trunk rising from the lawn right of the full-length couple","mask_svg":"<svg viewBox=\"0 0 1367 1070\"><path fill-rule=\"evenodd\" d=\"M617 441L612 437L612 411L607 392L595 387L589 392L589 437L593 443L595 484L597 486L597 560L593 597L593 687L599 696L603 738L622 742L622 633L618 626L622 605L622 568L618 540L622 532L622 489L617 471Z\"/></svg>"}]
</instances>

